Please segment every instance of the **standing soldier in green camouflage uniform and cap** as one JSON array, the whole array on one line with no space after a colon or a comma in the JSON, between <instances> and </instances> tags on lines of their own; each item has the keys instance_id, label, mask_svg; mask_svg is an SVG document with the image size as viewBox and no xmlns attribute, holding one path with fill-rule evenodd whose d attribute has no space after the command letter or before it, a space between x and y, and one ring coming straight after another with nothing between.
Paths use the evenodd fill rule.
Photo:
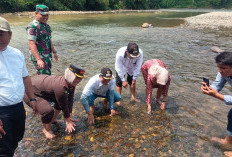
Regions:
<instances>
[{"instance_id":1,"label":"standing soldier in green camouflage uniform and cap","mask_svg":"<svg viewBox=\"0 0 232 157\"><path fill-rule=\"evenodd\" d=\"M27 26L31 61L37 74L51 75L52 54L58 61L57 52L52 43L51 27L47 24L49 9L46 5L36 5L35 19Z\"/></svg>"}]
</instances>

